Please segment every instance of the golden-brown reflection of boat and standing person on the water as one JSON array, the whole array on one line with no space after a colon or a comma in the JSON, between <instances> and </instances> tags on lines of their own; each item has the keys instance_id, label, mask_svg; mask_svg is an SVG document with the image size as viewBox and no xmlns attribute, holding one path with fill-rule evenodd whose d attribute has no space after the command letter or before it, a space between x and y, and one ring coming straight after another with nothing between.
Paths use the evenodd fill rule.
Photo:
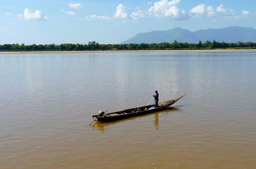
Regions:
<instances>
[{"instance_id":1,"label":"golden-brown reflection of boat and standing person on the water","mask_svg":"<svg viewBox=\"0 0 256 169\"><path fill-rule=\"evenodd\" d=\"M168 107L168 109L164 110L164 111L158 111L156 113L151 113L151 114L146 114L146 115L140 115L140 116L137 116L137 117L147 117L147 116L150 116L150 115L154 115L154 125L155 125L155 128L156 130L158 129L158 125L159 125L159 119L158 119L158 114L159 113L165 113L166 115L168 115L168 113L172 112L172 111L179 111L180 109L177 108L177 107ZM131 117L131 118L128 118L128 119L123 119L123 120L119 120L119 121L112 121L112 122L96 122L92 125L92 129L93 130L100 130L102 133L105 132L105 127L106 126L109 126L109 125L114 125L116 123L120 123L122 121L125 121L125 120L131 120L131 119L134 119L134 118L137 118L137 117Z\"/></svg>"}]
</instances>

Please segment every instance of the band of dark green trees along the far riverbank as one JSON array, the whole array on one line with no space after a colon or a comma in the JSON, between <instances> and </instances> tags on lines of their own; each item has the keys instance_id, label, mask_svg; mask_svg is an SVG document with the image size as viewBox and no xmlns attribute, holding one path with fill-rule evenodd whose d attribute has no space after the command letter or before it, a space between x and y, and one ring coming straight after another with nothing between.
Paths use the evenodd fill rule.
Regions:
<instances>
[{"instance_id":1,"label":"band of dark green trees along the far riverbank","mask_svg":"<svg viewBox=\"0 0 256 169\"><path fill-rule=\"evenodd\" d=\"M19 51L104 51L104 50L216 50L216 49L256 49L254 42L213 42L206 41L197 44L163 42L159 44L99 44L92 41L88 44L46 44L46 45L25 45L25 44L0 44L0 52L19 52Z\"/></svg>"}]
</instances>

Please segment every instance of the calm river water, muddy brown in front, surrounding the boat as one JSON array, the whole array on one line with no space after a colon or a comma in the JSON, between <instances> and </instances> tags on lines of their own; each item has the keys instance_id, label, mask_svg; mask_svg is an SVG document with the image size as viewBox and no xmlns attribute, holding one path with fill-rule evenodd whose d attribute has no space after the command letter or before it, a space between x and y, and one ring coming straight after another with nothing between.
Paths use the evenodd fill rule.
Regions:
<instances>
[{"instance_id":1,"label":"calm river water, muddy brown in front, surrounding the boat","mask_svg":"<svg viewBox=\"0 0 256 169\"><path fill-rule=\"evenodd\" d=\"M0 55L1 169L254 169L256 52ZM92 115L186 93L110 123Z\"/></svg>"}]
</instances>

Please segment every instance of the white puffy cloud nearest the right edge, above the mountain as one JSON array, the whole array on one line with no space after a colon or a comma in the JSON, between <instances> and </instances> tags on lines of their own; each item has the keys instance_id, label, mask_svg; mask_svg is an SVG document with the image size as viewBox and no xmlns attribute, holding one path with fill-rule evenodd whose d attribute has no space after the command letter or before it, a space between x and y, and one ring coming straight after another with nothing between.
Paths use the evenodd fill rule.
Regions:
<instances>
[{"instance_id":1,"label":"white puffy cloud nearest the right edge, above the mountain","mask_svg":"<svg viewBox=\"0 0 256 169\"><path fill-rule=\"evenodd\" d=\"M254 13L249 12L247 10L243 10L242 13L235 12L232 9L226 9L224 8L223 4L220 4L220 6L216 9L217 12L224 14L225 19L240 19L240 18L246 18L248 16L254 15Z\"/></svg>"}]
</instances>

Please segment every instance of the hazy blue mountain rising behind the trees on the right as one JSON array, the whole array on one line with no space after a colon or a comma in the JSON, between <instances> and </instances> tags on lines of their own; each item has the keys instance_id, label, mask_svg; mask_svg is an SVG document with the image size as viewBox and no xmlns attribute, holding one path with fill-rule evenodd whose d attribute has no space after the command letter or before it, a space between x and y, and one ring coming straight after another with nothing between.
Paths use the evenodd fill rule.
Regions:
<instances>
[{"instance_id":1,"label":"hazy blue mountain rising behind the trees on the right","mask_svg":"<svg viewBox=\"0 0 256 169\"><path fill-rule=\"evenodd\" d=\"M191 32L182 28L140 33L121 44L161 43L174 41L198 43L199 40L216 42L256 42L256 29L232 26L221 29L207 29Z\"/></svg>"}]
</instances>

